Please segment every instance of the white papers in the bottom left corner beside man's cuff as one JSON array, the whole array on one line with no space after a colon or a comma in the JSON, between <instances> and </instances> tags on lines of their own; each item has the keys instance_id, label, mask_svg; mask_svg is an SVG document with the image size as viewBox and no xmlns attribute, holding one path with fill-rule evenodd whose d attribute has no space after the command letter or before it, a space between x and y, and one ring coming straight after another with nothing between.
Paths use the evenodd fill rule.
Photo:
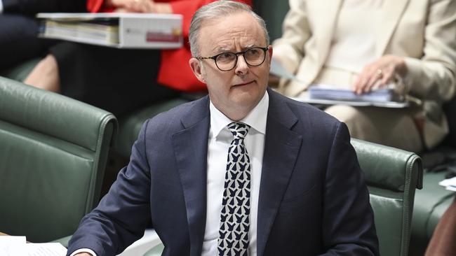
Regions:
<instances>
[{"instance_id":1,"label":"white papers in the bottom left corner beside man's cuff","mask_svg":"<svg viewBox=\"0 0 456 256\"><path fill-rule=\"evenodd\" d=\"M60 243L27 243L25 236L0 236L1 256L65 256Z\"/></svg>"}]
</instances>

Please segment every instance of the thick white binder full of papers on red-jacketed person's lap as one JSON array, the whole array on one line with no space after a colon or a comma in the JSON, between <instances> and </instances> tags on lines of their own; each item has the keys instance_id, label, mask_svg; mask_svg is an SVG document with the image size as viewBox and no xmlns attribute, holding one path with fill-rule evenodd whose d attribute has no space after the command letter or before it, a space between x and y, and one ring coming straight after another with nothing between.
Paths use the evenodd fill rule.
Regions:
<instances>
[{"instance_id":1,"label":"thick white binder full of papers on red-jacketed person's lap","mask_svg":"<svg viewBox=\"0 0 456 256\"><path fill-rule=\"evenodd\" d=\"M39 36L117 48L182 47L182 15L38 13Z\"/></svg>"}]
</instances>

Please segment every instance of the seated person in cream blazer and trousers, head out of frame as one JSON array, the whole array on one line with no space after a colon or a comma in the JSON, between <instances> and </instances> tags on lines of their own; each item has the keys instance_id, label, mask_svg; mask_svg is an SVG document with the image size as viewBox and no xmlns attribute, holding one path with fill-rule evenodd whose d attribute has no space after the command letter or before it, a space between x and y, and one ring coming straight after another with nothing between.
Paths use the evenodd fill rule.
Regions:
<instances>
[{"instance_id":1,"label":"seated person in cream blazer and trousers, head out of frame","mask_svg":"<svg viewBox=\"0 0 456 256\"><path fill-rule=\"evenodd\" d=\"M330 106L351 136L413 152L448 134L442 104L455 94L456 1L290 0L274 57L300 81L276 90L304 97L311 85L361 94L394 85L420 99L409 108Z\"/></svg>"}]
</instances>

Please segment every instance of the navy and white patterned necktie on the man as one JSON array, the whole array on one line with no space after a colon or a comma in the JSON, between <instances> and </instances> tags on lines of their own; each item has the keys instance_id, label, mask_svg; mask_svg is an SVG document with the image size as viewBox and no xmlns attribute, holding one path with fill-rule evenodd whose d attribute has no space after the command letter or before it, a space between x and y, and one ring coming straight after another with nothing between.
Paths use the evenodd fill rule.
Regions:
<instances>
[{"instance_id":1,"label":"navy and white patterned necktie on the man","mask_svg":"<svg viewBox=\"0 0 456 256\"><path fill-rule=\"evenodd\" d=\"M244 138L250 126L241 122L228 125L234 138L228 149L224 178L222 212L218 237L218 255L248 255L250 222L250 158Z\"/></svg>"}]
</instances>

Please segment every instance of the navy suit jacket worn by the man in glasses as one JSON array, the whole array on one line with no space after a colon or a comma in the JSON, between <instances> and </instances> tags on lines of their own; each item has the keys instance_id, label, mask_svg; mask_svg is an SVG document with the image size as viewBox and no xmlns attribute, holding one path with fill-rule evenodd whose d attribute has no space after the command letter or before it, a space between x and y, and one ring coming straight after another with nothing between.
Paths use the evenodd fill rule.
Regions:
<instances>
[{"instance_id":1,"label":"navy suit jacket worn by the man in glasses","mask_svg":"<svg viewBox=\"0 0 456 256\"><path fill-rule=\"evenodd\" d=\"M257 216L257 255L378 255L373 211L347 127L271 90ZM147 120L68 253L120 253L147 222L163 255L201 255L206 224L205 97Z\"/></svg>"}]
</instances>

